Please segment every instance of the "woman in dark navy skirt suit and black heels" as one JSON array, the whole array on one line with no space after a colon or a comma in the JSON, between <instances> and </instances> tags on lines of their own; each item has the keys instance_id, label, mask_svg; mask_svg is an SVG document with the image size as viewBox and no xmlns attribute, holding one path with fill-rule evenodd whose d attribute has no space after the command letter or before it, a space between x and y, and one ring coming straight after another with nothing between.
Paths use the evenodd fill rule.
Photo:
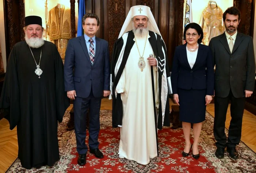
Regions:
<instances>
[{"instance_id":1,"label":"woman in dark navy skirt suit and black heels","mask_svg":"<svg viewBox=\"0 0 256 173\"><path fill-rule=\"evenodd\" d=\"M180 121L185 137L183 157L200 157L197 148L202 122L205 120L206 105L214 95L214 70L210 47L202 43L203 30L196 23L188 24L183 34L186 44L176 47L172 67L172 89L174 102L180 106ZM194 140L190 142L191 123Z\"/></svg>"}]
</instances>

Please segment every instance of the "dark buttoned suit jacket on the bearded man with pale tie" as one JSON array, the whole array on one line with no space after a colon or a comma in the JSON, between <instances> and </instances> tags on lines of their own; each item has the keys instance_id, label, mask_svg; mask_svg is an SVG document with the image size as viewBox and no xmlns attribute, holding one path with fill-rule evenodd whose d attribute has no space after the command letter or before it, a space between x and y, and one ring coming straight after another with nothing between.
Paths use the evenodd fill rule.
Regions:
<instances>
[{"instance_id":1,"label":"dark buttoned suit jacket on the bearded man with pale tie","mask_svg":"<svg viewBox=\"0 0 256 173\"><path fill-rule=\"evenodd\" d=\"M230 52L225 33L211 39L209 46L215 67L215 96L227 97L230 89L236 98L245 97L245 91L254 90L255 58L253 40L249 35L237 33Z\"/></svg>"}]
</instances>

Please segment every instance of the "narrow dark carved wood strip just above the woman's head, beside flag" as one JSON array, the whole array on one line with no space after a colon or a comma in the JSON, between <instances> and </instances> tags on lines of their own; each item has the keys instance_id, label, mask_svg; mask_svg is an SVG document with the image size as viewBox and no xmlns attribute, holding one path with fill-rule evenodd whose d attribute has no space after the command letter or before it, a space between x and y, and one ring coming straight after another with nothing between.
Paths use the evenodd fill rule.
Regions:
<instances>
[{"instance_id":1,"label":"narrow dark carved wood strip just above the woman's head, beside flag","mask_svg":"<svg viewBox=\"0 0 256 173\"><path fill-rule=\"evenodd\" d=\"M183 42L183 11L184 11L184 0L179 0L178 4L178 45Z\"/></svg>"}]
</instances>

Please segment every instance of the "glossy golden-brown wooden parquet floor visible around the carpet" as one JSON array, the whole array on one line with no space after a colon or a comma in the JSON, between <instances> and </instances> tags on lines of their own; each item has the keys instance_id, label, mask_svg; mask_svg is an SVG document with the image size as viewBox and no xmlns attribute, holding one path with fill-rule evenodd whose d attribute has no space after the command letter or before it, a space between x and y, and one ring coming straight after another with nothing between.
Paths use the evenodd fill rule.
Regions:
<instances>
[{"instance_id":1,"label":"glossy golden-brown wooden parquet floor visible around the carpet","mask_svg":"<svg viewBox=\"0 0 256 173\"><path fill-rule=\"evenodd\" d=\"M174 103L170 100L170 106ZM70 110L72 106L69 106ZM103 98L101 102L102 110L112 110L112 100ZM206 110L214 116L214 104L207 106ZM226 118L226 127L229 127L230 111L228 109ZM256 116L244 111L242 124L242 138L249 148L256 152ZM0 173L4 173L18 156L18 141L16 127L14 130L9 129L9 123L6 119L0 120Z\"/></svg>"}]
</instances>

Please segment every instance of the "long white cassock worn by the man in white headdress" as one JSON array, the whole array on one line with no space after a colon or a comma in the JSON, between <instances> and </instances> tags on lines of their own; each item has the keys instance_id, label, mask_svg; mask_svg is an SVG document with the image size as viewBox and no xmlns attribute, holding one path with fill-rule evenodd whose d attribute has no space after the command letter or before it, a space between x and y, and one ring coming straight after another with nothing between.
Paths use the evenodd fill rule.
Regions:
<instances>
[{"instance_id":1,"label":"long white cassock worn by the man in white headdress","mask_svg":"<svg viewBox=\"0 0 256 173\"><path fill-rule=\"evenodd\" d=\"M146 67L143 71L138 67L139 52L134 43L129 54L124 71L117 84L116 91L121 93L123 101L123 119L120 127L119 153L129 160L146 165L149 158L157 156L157 141L155 134L154 103L151 80L151 66L148 63L148 56L153 54L152 47L148 41L143 55L146 36L136 36L136 42L140 55L144 57ZM135 39L133 39L135 41ZM154 69L155 95L158 95L158 71ZM158 109L158 99L155 97Z\"/></svg>"}]
</instances>

